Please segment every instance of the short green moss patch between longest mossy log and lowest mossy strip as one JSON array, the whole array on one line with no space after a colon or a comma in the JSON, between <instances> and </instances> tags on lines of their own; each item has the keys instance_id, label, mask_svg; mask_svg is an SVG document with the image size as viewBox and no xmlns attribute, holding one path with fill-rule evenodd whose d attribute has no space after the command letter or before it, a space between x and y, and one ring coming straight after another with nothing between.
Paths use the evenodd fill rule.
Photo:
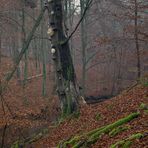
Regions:
<instances>
[{"instance_id":1,"label":"short green moss patch between longest mossy log and lowest mossy strip","mask_svg":"<svg viewBox=\"0 0 148 148\"><path fill-rule=\"evenodd\" d=\"M117 128L114 128L111 132L109 132L109 136L110 137L114 137L116 136L117 134L125 131L125 130L128 130L129 127L128 126L119 126Z\"/></svg>"}]
</instances>

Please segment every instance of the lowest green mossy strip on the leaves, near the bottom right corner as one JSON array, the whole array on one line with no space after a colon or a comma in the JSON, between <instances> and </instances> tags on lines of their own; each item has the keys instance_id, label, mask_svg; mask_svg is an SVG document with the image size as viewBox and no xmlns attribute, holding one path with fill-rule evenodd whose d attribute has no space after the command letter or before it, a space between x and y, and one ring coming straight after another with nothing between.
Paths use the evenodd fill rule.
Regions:
<instances>
[{"instance_id":1,"label":"lowest green mossy strip on the leaves, near the bottom right corner","mask_svg":"<svg viewBox=\"0 0 148 148\"><path fill-rule=\"evenodd\" d=\"M111 145L111 148L117 148L119 146L122 148L128 148L131 146L133 140L140 139L142 137L143 137L143 134L141 134L141 133L131 135L127 139L118 141L115 144Z\"/></svg>"}]
</instances>

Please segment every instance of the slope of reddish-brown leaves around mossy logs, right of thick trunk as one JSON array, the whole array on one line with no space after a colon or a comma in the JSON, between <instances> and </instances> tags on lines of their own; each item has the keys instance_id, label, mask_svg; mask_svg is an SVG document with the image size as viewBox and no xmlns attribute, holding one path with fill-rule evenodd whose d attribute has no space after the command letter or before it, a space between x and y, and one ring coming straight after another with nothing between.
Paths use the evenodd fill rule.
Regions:
<instances>
[{"instance_id":1,"label":"slope of reddish-brown leaves around mossy logs, right of thick trunk","mask_svg":"<svg viewBox=\"0 0 148 148\"><path fill-rule=\"evenodd\" d=\"M105 102L82 106L78 118L67 119L56 128L53 128L48 137L39 140L32 146L39 148L56 147L62 140L113 123L137 110L140 111L141 114L138 118L125 125L128 126L128 130L113 137L108 134L103 135L92 146L93 148L109 148L111 144L126 139L132 134L148 132L148 114L139 108L141 103L148 104L148 87L138 85L129 92L123 92L121 95ZM148 147L147 136L134 142L132 147Z\"/></svg>"}]
</instances>

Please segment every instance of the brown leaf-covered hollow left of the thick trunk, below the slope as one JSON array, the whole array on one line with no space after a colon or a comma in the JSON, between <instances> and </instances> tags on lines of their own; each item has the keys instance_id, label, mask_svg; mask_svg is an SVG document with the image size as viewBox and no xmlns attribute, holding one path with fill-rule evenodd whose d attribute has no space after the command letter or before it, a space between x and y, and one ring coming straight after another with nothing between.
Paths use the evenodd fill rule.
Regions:
<instances>
[{"instance_id":1,"label":"brown leaf-covered hollow left of the thick trunk, below the slope","mask_svg":"<svg viewBox=\"0 0 148 148\"><path fill-rule=\"evenodd\" d=\"M11 67L12 61L4 57L0 63L1 83ZM27 81L25 86L16 77L9 82L6 92L0 96L0 146L3 143L9 148L16 141L40 134L56 120L57 98L49 95L51 80L46 86L48 94L42 97L42 77Z\"/></svg>"}]
</instances>

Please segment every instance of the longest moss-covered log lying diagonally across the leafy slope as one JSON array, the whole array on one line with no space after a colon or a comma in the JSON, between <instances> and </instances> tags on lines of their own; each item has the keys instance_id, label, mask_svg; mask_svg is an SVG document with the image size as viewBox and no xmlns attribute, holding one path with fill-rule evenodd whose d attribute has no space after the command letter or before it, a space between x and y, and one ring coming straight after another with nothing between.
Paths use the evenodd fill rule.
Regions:
<instances>
[{"instance_id":1,"label":"longest moss-covered log lying diagonally across the leafy slope","mask_svg":"<svg viewBox=\"0 0 148 148\"><path fill-rule=\"evenodd\" d=\"M88 147L89 145L95 143L103 134L108 134L110 131L112 131L114 128L117 128L134 118L137 118L139 116L139 112L132 113L128 115L125 118L122 118L112 124L109 124L107 126L103 126L101 128L94 129L88 133L75 136L71 138L70 140L64 141L59 143L58 148L80 148L80 147Z\"/></svg>"}]
</instances>

